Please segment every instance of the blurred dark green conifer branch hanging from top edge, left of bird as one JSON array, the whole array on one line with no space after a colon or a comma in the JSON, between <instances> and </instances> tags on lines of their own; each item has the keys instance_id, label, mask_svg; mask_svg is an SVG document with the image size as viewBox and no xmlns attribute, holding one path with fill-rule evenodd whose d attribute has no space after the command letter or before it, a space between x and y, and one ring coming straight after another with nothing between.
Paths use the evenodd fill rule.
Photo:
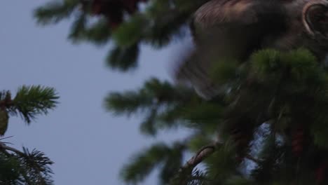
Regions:
<instances>
[{"instance_id":1,"label":"blurred dark green conifer branch hanging from top edge, left of bird","mask_svg":"<svg viewBox=\"0 0 328 185\"><path fill-rule=\"evenodd\" d=\"M161 48L184 36L191 14L205 1L149 1L142 11L125 13L124 21L115 29L106 16L92 13L89 6L78 0L50 1L36 8L34 17L41 25L48 25L74 15L68 38L74 43L89 41L97 45L113 40L107 63L109 67L126 71L137 66L140 44Z\"/></svg>"}]
</instances>

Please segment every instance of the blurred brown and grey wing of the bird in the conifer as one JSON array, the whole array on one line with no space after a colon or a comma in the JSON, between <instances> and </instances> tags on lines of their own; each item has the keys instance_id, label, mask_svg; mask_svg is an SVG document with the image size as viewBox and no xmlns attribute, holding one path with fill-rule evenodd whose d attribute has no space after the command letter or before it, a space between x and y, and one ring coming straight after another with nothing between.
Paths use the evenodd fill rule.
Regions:
<instances>
[{"instance_id":1,"label":"blurred brown and grey wing of the bird in the conifer","mask_svg":"<svg viewBox=\"0 0 328 185\"><path fill-rule=\"evenodd\" d=\"M221 88L211 79L213 63L220 58L245 60L266 36L282 29L279 6L262 2L212 0L198 8L191 25L196 48L178 67L177 80L191 83L206 100L217 95Z\"/></svg>"}]
</instances>

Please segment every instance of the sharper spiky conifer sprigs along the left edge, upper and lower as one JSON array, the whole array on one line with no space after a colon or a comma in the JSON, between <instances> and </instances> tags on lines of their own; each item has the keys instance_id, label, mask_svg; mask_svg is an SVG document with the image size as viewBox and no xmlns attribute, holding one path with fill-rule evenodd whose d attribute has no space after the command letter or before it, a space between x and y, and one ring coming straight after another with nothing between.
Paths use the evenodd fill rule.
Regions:
<instances>
[{"instance_id":1,"label":"sharper spiky conifer sprigs along the left edge, upper and lower","mask_svg":"<svg viewBox=\"0 0 328 185\"><path fill-rule=\"evenodd\" d=\"M8 90L0 92L0 136L4 136L11 116L21 116L30 124L36 116L48 114L54 109L58 96L53 88L40 85L23 85L15 97ZM41 151L22 151L9 146L4 137L0 139L0 184L53 184L50 165L53 164Z\"/></svg>"}]
</instances>

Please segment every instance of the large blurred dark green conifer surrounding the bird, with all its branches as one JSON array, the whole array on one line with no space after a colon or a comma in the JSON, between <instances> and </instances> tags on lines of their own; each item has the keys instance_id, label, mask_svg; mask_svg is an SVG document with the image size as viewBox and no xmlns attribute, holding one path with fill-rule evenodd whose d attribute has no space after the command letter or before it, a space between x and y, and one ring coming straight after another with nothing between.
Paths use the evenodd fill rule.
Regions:
<instances>
[{"instance_id":1,"label":"large blurred dark green conifer surrounding the bird, with all its branches","mask_svg":"<svg viewBox=\"0 0 328 185\"><path fill-rule=\"evenodd\" d=\"M137 66L140 44L161 48L183 36L204 2L63 0L37 8L35 16L49 24L76 15L69 39L113 42L107 62L126 71ZM190 130L185 139L137 153L121 171L126 183L141 183L155 168L161 184L328 183L328 74L313 53L259 50L246 61L217 62L212 78L222 90L210 101L157 78L106 97L117 115L144 115L144 135Z\"/></svg>"}]
</instances>

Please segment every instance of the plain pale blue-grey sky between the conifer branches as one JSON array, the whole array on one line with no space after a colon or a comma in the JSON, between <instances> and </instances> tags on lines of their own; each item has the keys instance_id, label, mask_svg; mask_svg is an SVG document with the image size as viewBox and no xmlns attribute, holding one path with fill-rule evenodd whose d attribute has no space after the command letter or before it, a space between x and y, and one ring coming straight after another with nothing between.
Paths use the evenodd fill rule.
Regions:
<instances>
[{"instance_id":1,"label":"plain pale blue-grey sky between the conifer branches","mask_svg":"<svg viewBox=\"0 0 328 185\"><path fill-rule=\"evenodd\" d=\"M133 153L185 133L171 130L158 138L144 137L139 134L140 117L113 116L104 109L104 97L138 88L150 76L170 79L172 61L185 43L163 50L144 46L138 69L121 74L105 65L108 46L69 42L68 21L36 25L32 11L45 2L1 2L0 90L15 94L21 85L46 85L60 95L58 107L31 125L11 117L5 137L13 137L6 142L46 153L55 162L55 184L123 184L118 172ZM156 173L142 184L156 184Z\"/></svg>"}]
</instances>

